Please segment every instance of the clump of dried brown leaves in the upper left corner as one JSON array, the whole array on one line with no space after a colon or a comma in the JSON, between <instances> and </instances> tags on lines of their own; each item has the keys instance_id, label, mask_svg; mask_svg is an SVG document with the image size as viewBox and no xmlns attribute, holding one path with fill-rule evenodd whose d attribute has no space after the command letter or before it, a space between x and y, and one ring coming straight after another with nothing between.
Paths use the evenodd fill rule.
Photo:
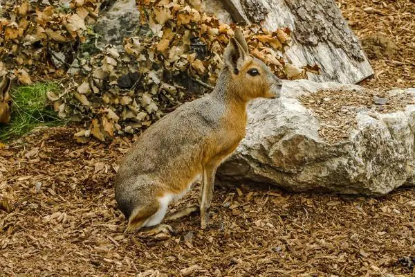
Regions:
<instances>
[{"instance_id":1,"label":"clump of dried brown leaves in the upper left corner","mask_svg":"<svg viewBox=\"0 0 415 277\"><path fill-rule=\"evenodd\" d=\"M21 84L66 73L86 26L98 17L102 0L4 1L0 12L0 77ZM49 2L48 4L53 3Z\"/></svg>"}]
</instances>

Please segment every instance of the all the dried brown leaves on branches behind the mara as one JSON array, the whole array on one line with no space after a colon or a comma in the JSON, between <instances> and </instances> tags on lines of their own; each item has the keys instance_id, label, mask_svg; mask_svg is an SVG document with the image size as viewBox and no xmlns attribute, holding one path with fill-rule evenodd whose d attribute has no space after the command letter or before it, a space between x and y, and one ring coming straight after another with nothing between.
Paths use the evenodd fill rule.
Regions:
<instances>
[{"instance_id":1,"label":"all the dried brown leaves on branches behind the mara","mask_svg":"<svg viewBox=\"0 0 415 277\"><path fill-rule=\"evenodd\" d=\"M84 51L92 46L90 27L101 2L48 6L7 1L0 18L0 77L31 84L65 75L62 91L48 93L48 99L60 117L84 122L75 134L82 143L136 134L183 102L210 92L237 27L207 15L201 1L138 0L139 37L125 38L123 51L111 45ZM288 28L269 32L246 26L243 32L250 53L279 78L306 78L307 71L320 70L284 61L282 53L291 42Z\"/></svg>"}]
</instances>

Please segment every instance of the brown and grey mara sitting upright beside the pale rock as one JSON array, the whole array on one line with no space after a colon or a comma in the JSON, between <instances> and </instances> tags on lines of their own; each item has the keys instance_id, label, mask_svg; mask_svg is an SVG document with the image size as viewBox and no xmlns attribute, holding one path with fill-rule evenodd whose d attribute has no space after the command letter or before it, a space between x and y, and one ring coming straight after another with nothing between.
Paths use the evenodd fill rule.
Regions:
<instances>
[{"instance_id":1,"label":"brown and grey mara sitting upright beside the pale rock","mask_svg":"<svg viewBox=\"0 0 415 277\"><path fill-rule=\"evenodd\" d=\"M128 230L163 220L170 201L201 175L202 228L208 225L216 168L245 136L246 108L254 98L276 98L282 82L255 57L240 30L223 55L225 66L210 95L187 102L149 127L120 164L116 200ZM259 75L248 71L257 69Z\"/></svg>"}]
</instances>

